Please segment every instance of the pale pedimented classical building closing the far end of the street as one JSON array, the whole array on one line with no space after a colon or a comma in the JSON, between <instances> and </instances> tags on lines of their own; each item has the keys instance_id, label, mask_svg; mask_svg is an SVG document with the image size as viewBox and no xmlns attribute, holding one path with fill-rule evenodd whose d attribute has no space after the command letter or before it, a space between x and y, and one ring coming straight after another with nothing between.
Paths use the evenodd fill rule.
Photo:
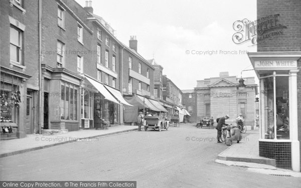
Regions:
<instances>
[{"instance_id":1,"label":"pale pedimented classical building closing the far end of the street","mask_svg":"<svg viewBox=\"0 0 301 188\"><path fill-rule=\"evenodd\" d=\"M198 80L193 92L191 90L182 91L183 104L188 111L193 111L190 121L197 122L203 117L216 119L228 114L230 118L227 122L235 123L235 118L242 113L245 125L253 128L256 119L257 85L254 77L243 79L246 87L240 89L238 88L239 79L236 76L229 76L228 72L221 72L219 77Z\"/></svg>"}]
</instances>

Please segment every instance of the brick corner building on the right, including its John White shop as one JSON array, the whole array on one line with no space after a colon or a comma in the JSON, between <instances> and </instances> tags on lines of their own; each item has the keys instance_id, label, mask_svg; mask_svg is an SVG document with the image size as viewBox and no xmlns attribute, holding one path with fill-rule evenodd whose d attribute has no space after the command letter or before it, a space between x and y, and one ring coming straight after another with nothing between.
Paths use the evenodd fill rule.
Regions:
<instances>
[{"instance_id":1,"label":"brick corner building on the right, including its John White shop","mask_svg":"<svg viewBox=\"0 0 301 188\"><path fill-rule=\"evenodd\" d=\"M259 155L294 171L301 163L300 17L300 1L258 0L257 52L248 54L260 81Z\"/></svg>"}]
</instances>

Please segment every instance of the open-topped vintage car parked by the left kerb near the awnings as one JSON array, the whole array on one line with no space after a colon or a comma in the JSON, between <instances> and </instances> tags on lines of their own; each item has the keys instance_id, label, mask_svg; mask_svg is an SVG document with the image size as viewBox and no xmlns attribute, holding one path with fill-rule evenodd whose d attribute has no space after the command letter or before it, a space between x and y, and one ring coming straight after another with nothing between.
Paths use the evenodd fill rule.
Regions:
<instances>
[{"instance_id":1,"label":"open-topped vintage car parked by the left kerb near the awnings","mask_svg":"<svg viewBox=\"0 0 301 188\"><path fill-rule=\"evenodd\" d=\"M168 130L168 121L164 117L159 116L144 116L146 124L144 125L144 130L154 129L161 131L162 129Z\"/></svg>"}]
</instances>

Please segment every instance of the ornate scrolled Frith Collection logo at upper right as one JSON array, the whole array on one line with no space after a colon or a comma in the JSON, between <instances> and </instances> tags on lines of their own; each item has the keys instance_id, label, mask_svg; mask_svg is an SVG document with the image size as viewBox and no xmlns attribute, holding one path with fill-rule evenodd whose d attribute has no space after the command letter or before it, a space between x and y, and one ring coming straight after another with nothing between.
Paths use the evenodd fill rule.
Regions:
<instances>
[{"instance_id":1,"label":"ornate scrolled Frith Collection logo at upper right","mask_svg":"<svg viewBox=\"0 0 301 188\"><path fill-rule=\"evenodd\" d=\"M248 19L234 22L233 29L237 32L232 36L235 44L250 41L251 46L264 43L267 40L283 37L283 29L287 27L278 23L279 14L270 15L253 22Z\"/></svg>"}]
</instances>

